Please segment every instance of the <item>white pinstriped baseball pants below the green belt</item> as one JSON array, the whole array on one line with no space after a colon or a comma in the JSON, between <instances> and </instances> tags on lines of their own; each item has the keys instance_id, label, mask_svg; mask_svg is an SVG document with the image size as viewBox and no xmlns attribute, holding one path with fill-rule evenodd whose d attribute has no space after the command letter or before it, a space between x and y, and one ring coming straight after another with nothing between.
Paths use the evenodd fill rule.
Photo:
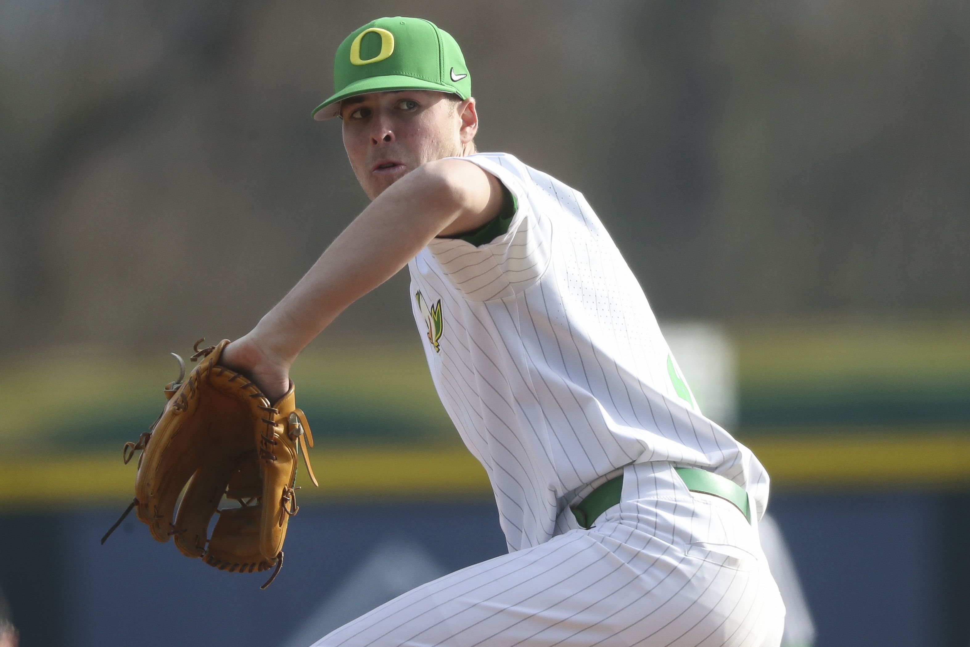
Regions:
<instances>
[{"instance_id":1,"label":"white pinstriped baseball pants below the green belt","mask_svg":"<svg viewBox=\"0 0 970 647\"><path fill-rule=\"evenodd\" d=\"M565 517L568 515L568 517ZM785 609L757 529L669 464L624 470L589 531L469 566L313 647L777 647Z\"/></svg>"}]
</instances>

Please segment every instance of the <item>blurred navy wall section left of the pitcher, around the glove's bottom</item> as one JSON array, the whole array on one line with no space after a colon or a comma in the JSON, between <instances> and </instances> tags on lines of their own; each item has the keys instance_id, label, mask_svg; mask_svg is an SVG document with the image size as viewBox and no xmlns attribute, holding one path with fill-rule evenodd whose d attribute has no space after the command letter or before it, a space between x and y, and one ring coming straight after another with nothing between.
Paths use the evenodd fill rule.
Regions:
<instances>
[{"instance_id":1,"label":"blurred navy wall section left of the pitcher, around the glove's bottom","mask_svg":"<svg viewBox=\"0 0 970 647\"><path fill-rule=\"evenodd\" d=\"M302 505L290 523L284 566L260 591L267 573L225 573L188 560L134 518L99 545L113 516L75 514L69 522L77 538L68 548L72 647L267 647L278 643L279 623L297 627L384 540L407 537L447 570L505 551L492 504ZM151 616L170 631L147 633Z\"/></svg>"}]
</instances>

